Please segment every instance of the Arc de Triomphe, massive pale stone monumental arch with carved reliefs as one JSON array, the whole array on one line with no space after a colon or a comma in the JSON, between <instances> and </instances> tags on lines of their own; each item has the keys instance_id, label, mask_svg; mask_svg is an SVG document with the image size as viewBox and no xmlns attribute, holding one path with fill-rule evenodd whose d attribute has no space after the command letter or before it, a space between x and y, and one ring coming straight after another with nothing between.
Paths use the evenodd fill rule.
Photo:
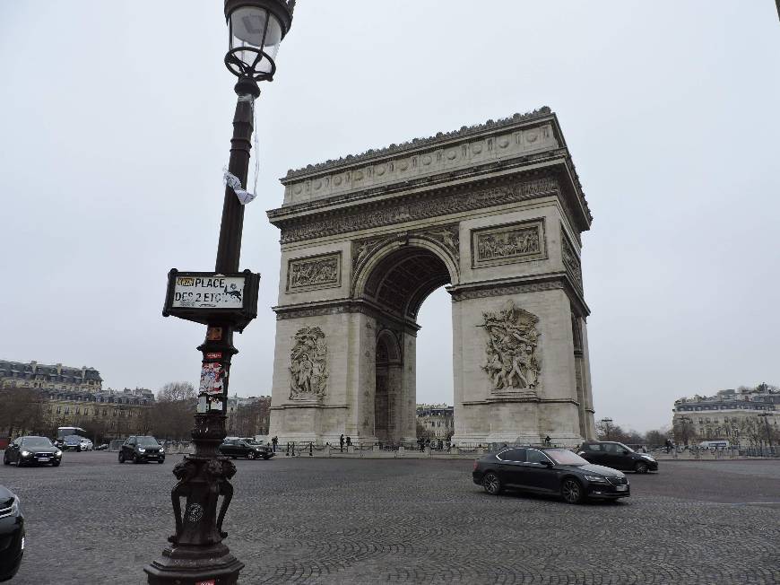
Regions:
<instances>
[{"instance_id":1,"label":"Arc de Triomphe, massive pale stone monumental arch with carved reliefs","mask_svg":"<svg viewBox=\"0 0 780 585\"><path fill-rule=\"evenodd\" d=\"M415 441L417 312L452 296L456 442L594 437L592 216L548 108L290 171L271 434ZM442 372L448 376L449 372Z\"/></svg>"}]
</instances>

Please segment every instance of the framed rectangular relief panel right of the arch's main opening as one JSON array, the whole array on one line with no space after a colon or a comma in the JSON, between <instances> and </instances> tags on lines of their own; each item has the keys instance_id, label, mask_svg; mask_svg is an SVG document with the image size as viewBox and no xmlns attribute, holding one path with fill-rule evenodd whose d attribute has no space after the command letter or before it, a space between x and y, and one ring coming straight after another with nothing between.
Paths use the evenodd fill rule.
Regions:
<instances>
[{"instance_id":1,"label":"framed rectangular relief panel right of the arch's main opening","mask_svg":"<svg viewBox=\"0 0 780 585\"><path fill-rule=\"evenodd\" d=\"M472 230L472 268L545 258L544 218Z\"/></svg>"}]
</instances>

